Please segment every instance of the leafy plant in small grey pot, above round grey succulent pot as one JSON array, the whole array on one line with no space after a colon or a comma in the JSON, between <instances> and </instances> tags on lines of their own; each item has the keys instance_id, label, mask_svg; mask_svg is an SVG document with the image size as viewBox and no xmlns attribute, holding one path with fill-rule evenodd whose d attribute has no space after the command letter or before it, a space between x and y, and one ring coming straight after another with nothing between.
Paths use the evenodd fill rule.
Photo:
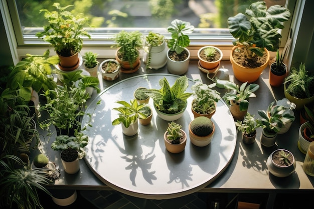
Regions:
<instances>
[{"instance_id":1,"label":"leafy plant in small grey pot, above round grey succulent pot","mask_svg":"<svg viewBox=\"0 0 314 209\"><path fill-rule=\"evenodd\" d=\"M275 102L271 102L267 110L258 110L257 113L261 118L257 119L260 127L263 128L260 142L265 147L271 147L276 142L277 132L283 126L283 120L294 120L295 117L289 112L286 112L286 108L281 105L274 105Z\"/></svg>"}]
</instances>

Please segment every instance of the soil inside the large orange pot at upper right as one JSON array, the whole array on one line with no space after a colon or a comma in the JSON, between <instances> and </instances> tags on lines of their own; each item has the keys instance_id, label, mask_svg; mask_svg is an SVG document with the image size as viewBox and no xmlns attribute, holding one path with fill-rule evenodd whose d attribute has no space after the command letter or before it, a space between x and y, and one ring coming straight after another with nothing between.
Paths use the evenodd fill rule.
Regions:
<instances>
[{"instance_id":1,"label":"soil inside the large orange pot at upper right","mask_svg":"<svg viewBox=\"0 0 314 209\"><path fill-rule=\"evenodd\" d=\"M232 57L236 63L246 68L257 68L265 64L267 61L267 54L264 52L263 57L254 56L253 59L247 59L242 48L234 50Z\"/></svg>"}]
</instances>

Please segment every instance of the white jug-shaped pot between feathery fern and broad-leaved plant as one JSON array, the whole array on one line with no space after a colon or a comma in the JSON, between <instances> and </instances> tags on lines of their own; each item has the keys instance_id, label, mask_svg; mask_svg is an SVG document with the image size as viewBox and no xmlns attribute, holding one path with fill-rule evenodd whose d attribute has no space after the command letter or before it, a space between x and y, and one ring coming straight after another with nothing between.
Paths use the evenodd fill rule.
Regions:
<instances>
[{"instance_id":1,"label":"white jug-shaped pot between feathery fern and broad-leaved plant","mask_svg":"<svg viewBox=\"0 0 314 209\"><path fill-rule=\"evenodd\" d=\"M167 64L167 48L166 48L166 42L164 41L161 46L158 47L152 47L150 49L150 64L149 68L152 69L160 69L164 67ZM147 62L148 53L144 56L144 62L146 64Z\"/></svg>"}]
</instances>

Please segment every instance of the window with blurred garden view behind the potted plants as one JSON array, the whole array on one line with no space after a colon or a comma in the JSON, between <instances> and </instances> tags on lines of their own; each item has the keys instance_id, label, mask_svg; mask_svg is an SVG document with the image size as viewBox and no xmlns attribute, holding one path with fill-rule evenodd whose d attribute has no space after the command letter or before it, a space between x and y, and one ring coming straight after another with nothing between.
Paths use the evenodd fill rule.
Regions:
<instances>
[{"instance_id":1,"label":"window with blurred garden view behind the potted plants","mask_svg":"<svg viewBox=\"0 0 314 209\"><path fill-rule=\"evenodd\" d=\"M293 14L296 0L288 1ZM41 9L54 10L54 0L7 0L18 46L46 45L37 39L36 32L47 22ZM190 22L196 27L190 35L191 47L216 45L229 47L233 37L227 29L227 19L238 12L244 12L252 0L59 0L62 6L73 4L77 13L84 13L90 20L92 40L85 46L110 46L110 38L120 30L138 30L142 33L159 32L166 36L166 28L174 19ZM271 5L286 5L286 0L265 1ZM290 19L291 20L291 19ZM289 24L285 23L282 40L287 39ZM282 47L284 43L282 44ZM24 52L24 51L21 51ZM29 52L27 52L29 53ZM20 52L19 52L20 54ZM22 53L23 54L23 53Z\"/></svg>"}]
</instances>

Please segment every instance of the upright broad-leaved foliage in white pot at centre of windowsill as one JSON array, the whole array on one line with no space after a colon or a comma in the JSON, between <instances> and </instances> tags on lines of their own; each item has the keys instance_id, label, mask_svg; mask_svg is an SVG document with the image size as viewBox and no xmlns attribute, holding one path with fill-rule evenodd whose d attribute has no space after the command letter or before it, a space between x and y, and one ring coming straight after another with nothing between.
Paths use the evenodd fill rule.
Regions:
<instances>
[{"instance_id":1,"label":"upright broad-leaved foliage in white pot at centre of windowsill","mask_svg":"<svg viewBox=\"0 0 314 209\"><path fill-rule=\"evenodd\" d=\"M169 49L180 55L184 48L190 45L190 38L187 34L194 31L194 26L191 26L189 22L174 20L171 22L171 26L167 28L167 31L171 33L172 38L168 40Z\"/></svg>"}]
</instances>

